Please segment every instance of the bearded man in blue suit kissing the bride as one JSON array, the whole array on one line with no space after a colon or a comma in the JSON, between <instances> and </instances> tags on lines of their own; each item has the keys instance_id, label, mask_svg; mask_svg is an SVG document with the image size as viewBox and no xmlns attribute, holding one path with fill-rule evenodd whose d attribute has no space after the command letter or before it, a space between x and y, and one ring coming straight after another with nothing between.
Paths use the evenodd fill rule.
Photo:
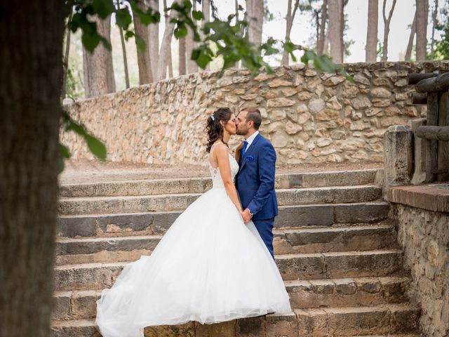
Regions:
<instances>
[{"instance_id":1,"label":"bearded man in blue suit kissing the bride","mask_svg":"<svg viewBox=\"0 0 449 337\"><path fill-rule=\"evenodd\" d=\"M245 138L236 150L239 173L236 187L244 211L245 223L253 220L269 252L273 253L274 217L278 215L278 203L274 192L276 152L269 140L260 136L262 123L260 111L248 107L236 119L237 134Z\"/></svg>"}]
</instances>

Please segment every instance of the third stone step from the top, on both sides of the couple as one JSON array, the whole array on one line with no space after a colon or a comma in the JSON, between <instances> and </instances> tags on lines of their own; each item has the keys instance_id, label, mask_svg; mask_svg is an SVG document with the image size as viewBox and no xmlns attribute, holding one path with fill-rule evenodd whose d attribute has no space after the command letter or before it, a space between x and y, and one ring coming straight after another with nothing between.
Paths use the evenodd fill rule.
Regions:
<instances>
[{"instance_id":1,"label":"third stone step from the top, on both sides of the couple","mask_svg":"<svg viewBox=\"0 0 449 337\"><path fill-rule=\"evenodd\" d=\"M384 201L350 204L280 206L275 227L330 226L335 223L375 223L387 218ZM163 234L181 211L60 216L59 237L121 237Z\"/></svg>"}]
</instances>

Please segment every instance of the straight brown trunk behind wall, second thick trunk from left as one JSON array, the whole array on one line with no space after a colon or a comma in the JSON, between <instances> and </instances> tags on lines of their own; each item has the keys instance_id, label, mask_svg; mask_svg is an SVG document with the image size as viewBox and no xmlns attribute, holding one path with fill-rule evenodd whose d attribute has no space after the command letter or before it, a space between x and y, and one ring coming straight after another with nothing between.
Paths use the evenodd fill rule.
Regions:
<instances>
[{"instance_id":1,"label":"straight brown trunk behind wall, second thick trunk from left","mask_svg":"<svg viewBox=\"0 0 449 337\"><path fill-rule=\"evenodd\" d=\"M145 11L146 6L144 0L138 1L138 6ZM149 27L145 26L140 22L138 15L136 13L133 13L134 17L134 29L135 34L137 34L139 37L142 38L143 41L145 41L145 51L140 51L136 44L136 48L138 51L138 68L139 68L139 84L147 84L151 83L153 81L153 73L152 73L152 58L149 55L149 51L152 48L155 48L152 46L150 39L149 39ZM153 24L155 25L155 24ZM158 48L156 46L156 52L158 51Z\"/></svg>"}]
</instances>

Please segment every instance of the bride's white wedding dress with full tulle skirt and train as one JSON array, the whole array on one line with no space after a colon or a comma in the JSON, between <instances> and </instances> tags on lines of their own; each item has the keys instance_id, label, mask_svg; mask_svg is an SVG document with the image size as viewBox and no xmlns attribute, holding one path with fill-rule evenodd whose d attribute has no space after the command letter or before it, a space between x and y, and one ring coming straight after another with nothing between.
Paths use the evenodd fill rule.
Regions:
<instances>
[{"instance_id":1,"label":"bride's white wedding dress with full tulle skirt and train","mask_svg":"<svg viewBox=\"0 0 449 337\"><path fill-rule=\"evenodd\" d=\"M231 154L229 162L234 179L239 164ZM175 220L151 256L127 265L102 291L95 322L102 336L143 337L145 326L291 312L255 225L243 223L219 169L211 160L209 165L213 188Z\"/></svg>"}]
</instances>

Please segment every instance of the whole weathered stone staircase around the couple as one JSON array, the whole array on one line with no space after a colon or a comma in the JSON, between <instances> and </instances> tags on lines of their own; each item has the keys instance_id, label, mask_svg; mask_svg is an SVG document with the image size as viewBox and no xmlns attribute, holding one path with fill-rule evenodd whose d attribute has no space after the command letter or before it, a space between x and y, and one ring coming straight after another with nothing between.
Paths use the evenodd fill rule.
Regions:
<instances>
[{"instance_id":1,"label":"whole weathered stone staircase around the couple","mask_svg":"<svg viewBox=\"0 0 449 337\"><path fill-rule=\"evenodd\" d=\"M396 226L376 169L276 177L276 263L293 312L145 329L145 336L417 337ZM60 190L53 335L100 336L95 300L130 261L150 254L208 178L123 180Z\"/></svg>"}]
</instances>

